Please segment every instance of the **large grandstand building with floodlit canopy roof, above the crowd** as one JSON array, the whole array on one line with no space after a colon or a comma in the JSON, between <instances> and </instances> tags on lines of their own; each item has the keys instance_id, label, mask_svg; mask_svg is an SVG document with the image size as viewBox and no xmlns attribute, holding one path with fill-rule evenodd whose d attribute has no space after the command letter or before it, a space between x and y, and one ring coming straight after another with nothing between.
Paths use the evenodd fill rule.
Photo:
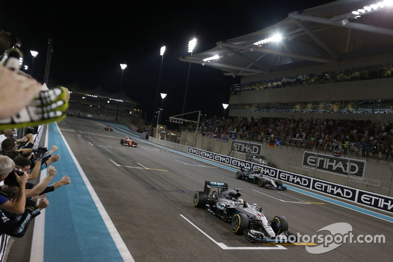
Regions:
<instances>
[{"instance_id":1,"label":"large grandstand building with floodlit canopy roof, above the crowd","mask_svg":"<svg viewBox=\"0 0 393 262\"><path fill-rule=\"evenodd\" d=\"M392 1L337 0L179 58L240 77L229 116L387 122L393 115Z\"/></svg>"}]
</instances>

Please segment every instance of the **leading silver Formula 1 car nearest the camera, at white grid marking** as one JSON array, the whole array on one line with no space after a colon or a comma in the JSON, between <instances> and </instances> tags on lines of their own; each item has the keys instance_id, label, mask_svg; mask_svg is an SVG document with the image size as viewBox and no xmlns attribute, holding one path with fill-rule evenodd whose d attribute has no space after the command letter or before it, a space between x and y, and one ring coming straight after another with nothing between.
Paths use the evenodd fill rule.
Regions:
<instances>
[{"instance_id":1,"label":"leading silver Formula 1 car nearest the camera, at white grid marking","mask_svg":"<svg viewBox=\"0 0 393 262\"><path fill-rule=\"evenodd\" d=\"M228 190L228 184L224 182L205 181L204 191L194 194L194 206L230 222L233 233L241 234L251 242L296 241L296 235L288 232L285 217L275 216L268 220L262 207L243 201L239 191L239 188Z\"/></svg>"}]
</instances>

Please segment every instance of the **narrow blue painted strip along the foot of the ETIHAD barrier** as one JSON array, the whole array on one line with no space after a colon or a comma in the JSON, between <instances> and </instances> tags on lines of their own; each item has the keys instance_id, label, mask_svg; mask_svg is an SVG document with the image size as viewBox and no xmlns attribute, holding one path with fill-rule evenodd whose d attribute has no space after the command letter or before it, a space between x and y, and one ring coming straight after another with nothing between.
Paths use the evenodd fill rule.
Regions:
<instances>
[{"instance_id":1,"label":"narrow blue painted strip along the foot of the ETIHAD barrier","mask_svg":"<svg viewBox=\"0 0 393 262\"><path fill-rule=\"evenodd\" d=\"M116 125L115 128L117 128L118 131L121 131L121 133L126 135L126 136L133 136L133 137L140 136L140 133L131 131L126 126ZM126 132L128 132L128 133L126 133ZM194 158L194 159L198 159L198 160L200 160L202 162L209 163L209 164L212 164L212 165L224 168L224 169L229 170L229 171L233 171L233 172L237 171L237 169L234 169L234 168L222 165L220 163L213 162L213 161L210 161L210 160L206 160L204 158L200 158L198 156L190 155L190 154L187 154L187 153L179 152L179 151L176 151L174 149L170 149L170 148L165 147L165 146L160 146L160 145L148 142L147 140L144 140L144 139L138 139L138 140L139 141L143 141L144 143L148 143L150 145L158 146L158 147L167 149L169 151L176 152L176 153L179 153L179 154L182 154L182 155ZM304 189L300 189L300 188L297 188L297 187L294 187L294 186L291 186L291 185L288 185L288 184L284 184L284 186L286 186L288 189L293 190L295 192L298 192L298 193L301 193L301 194L304 194L304 195L307 195L307 196L310 196L310 197L313 197L313 198L316 198L316 199L319 199L319 200L322 200L322 201L325 201L325 202L328 202L328 203L331 203L331 204L337 204L339 206L342 206L342 207L345 207L345 208L348 208L348 209L351 209L351 210L354 210L354 211L357 211L357 212L361 212L361 213L367 214L369 216L376 217L376 218L379 218L379 219L382 219L382 220L385 220L385 221L393 223L393 217L391 217L391 216L384 215L384 214L381 214L381 213L378 213L378 212L375 212L375 211L372 211L372 210L369 210L369 209L366 209L366 208L363 208L363 207L360 207L360 206L356 206L356 205L353 205L353 204L348 204L348 203L345 203L345 202L342 202L342 201L339 201L339 200L335 200L335 199L332 199L330 197L326 197L326 196L323 196L323 195L320 195L320 194L316 194L316 193L313 193L313 192L310 192L310 191L307 191L307 190L304 190Z\"/></svg>"}]
</instances>

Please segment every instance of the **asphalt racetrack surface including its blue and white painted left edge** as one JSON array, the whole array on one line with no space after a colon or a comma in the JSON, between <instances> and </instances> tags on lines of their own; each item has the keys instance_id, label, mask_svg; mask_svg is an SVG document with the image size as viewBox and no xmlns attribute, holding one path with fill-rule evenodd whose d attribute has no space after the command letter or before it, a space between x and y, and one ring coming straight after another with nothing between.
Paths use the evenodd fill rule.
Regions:
<instances>
[{"instance_id":1,"label":"asphalt racetrack surface including its blue and white painted left edge","mask_svg":"<svg viewBox=\"0 0 393 262\"><path fill-rule=\"evenodd\" d=\"M48 142L61 145L59 140L65 139L62 150L69 147L74 156L67 157L62 151L54 163L62 175L71 176L71 184L48 196L43 260L30 261L391 261L391 214L366 214L326 196L299 193L291 185L287 191L260 188L236 179L233 168L154 145L124 126L111 125L113 132L105 131L104 126L71 117L49 125ZM51 128L61 133L52 141L51 133L56 132ZM125 135L135 138L138 147L122 146L120 139ZM75 161L82 178L72 171ZM67 168L72 174L67 174ZM318 231L334 223L348 223L355 240L361 234L383 234L385 243L337 241L333 250L311 254L310 248L322 244L249 242L232 233L229 223L194 207L194 193L203 191L205 180L241 188L242 198L262 206L268 219L285 216L292 233L327 236L329 231ZM37 256L33 253L32 257Z\"/></svg>"}]
</instances>

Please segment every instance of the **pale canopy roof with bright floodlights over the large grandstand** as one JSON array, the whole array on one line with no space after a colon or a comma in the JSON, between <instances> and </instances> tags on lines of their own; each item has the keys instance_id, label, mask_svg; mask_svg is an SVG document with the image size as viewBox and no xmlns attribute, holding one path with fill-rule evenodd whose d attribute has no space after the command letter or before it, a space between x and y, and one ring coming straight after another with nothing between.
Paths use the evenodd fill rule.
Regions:
<instances>
[{"instance_id":1,"label":"pale canopy roof with bright floodlights over the large grandstand","mask_svg":"<svg viewBox=\"0 0 393 262\"><path fill-rule=\"evenodd\" d=\"M365 6L375 8L376 3L337 0L294 11L275 25L219 41L208 51L179 59L235 77L392 53L393 4L361 11L360 16L352 13ZM281 41L254 44L275 34L281 35ZM213 56L219 58L203 60Z\"/></svg>"}]
</instances>

